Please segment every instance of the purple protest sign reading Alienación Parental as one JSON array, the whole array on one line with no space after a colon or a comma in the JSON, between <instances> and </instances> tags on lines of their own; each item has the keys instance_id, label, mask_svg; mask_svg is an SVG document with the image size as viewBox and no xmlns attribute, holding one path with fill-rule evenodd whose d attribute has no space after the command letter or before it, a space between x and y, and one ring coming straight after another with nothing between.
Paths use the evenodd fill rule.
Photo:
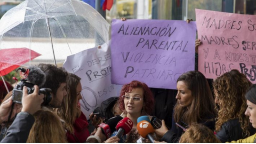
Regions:
<instances>
[{"instance_id":1,"label":"purple protest sign reading Alienaci\u00f3n Parental","mask_svg":"<svg viewBox=\"0 0 256 144\"><path fill-rule=\"evenodd\" d=\"M195 22L113 20L111 82L176 89L177 78L195 69L195 38Z\"/></svg>"}]
</instances>

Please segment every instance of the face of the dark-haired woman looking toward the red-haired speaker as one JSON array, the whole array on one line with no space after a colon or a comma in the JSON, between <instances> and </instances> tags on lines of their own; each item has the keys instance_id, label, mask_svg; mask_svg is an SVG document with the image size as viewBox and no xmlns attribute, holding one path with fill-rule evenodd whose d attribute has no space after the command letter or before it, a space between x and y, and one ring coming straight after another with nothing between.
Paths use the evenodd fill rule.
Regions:
<instances>
[{"instance_id":1,"label":"face of the dark-haired woman looking toward the red-haired speaker","mask_svg":"<svg viewBox=\"0 0 256 144\"><path fill-rule=\"evenodd\" d=\"M181 107L188 107L193 101L192 92L188 89L185 82L179 81L177 83L178 93L176 99Z\"/></svg>"}]
</instances>

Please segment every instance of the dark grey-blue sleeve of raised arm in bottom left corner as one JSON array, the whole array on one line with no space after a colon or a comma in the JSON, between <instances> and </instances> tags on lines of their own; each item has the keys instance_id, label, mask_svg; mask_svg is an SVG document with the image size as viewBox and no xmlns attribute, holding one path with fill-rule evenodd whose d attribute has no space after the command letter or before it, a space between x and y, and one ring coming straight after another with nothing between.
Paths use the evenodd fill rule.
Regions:
<instances>
[{"instance_id":1,"label":"dark grey-blue sleeve of raised arm in bottom left corner","mask_svg":"<svg viewBox=\"0 0 256 144\"><path fill-rule=\"evenodd\" d=\"M35 118L29 113L20 112L7 130L5 138L1 142L26 143Z\"/></svg>"}]
</instances>

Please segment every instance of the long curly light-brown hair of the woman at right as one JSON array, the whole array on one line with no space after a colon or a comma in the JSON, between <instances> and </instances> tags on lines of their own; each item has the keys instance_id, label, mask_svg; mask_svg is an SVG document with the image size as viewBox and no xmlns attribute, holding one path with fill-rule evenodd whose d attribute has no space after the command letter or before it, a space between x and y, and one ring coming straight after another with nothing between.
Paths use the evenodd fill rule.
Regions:
<instances>
[{"instance_id":1,"label":"long curly light-brown hair of the woman at right","mask_svg":"<svg viewBox=\"0 0 256 144\"><path fill-rule=\"evenodd\" d=\"M230 119L239 119L243 136L249 136L249 117L245 116L247 108L245 94L252 83L246 76L234 69L218 77L213 83L215 96L218 97L218 120L216 131L220 131L221 125Z\"/></svg>"}]
</instances>

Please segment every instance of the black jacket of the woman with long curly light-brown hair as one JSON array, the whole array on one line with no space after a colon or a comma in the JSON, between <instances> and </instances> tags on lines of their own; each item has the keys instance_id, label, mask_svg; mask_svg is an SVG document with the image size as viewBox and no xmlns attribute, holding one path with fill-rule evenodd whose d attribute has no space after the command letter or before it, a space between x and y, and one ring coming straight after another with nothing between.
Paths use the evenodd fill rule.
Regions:
<instances>
[{"instance_id":1,"label":"black jacket of the woman with long curly light-brown hair","mask_svg":"<svg viewBox=\"0 0 256 144\"><path fill-rule=\"evenodd\" d=\"M253 135L256 132L253 128L249 129L249 131L250 135ZM231 119L222 124L221 129L217 132L216 136L221 142L231 142L233 140L237 141L239 139L245 139L248 137L248 135L243 136L243 130L238 118Z\"/></svg>"}]
</instances>

